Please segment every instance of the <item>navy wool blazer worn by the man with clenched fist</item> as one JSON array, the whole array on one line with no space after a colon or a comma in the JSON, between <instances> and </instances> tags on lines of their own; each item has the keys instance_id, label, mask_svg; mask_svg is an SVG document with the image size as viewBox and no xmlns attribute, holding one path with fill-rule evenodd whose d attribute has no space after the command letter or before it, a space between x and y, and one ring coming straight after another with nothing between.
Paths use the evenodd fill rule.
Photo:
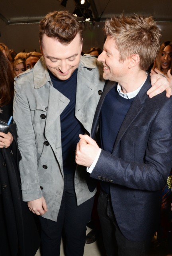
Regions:
<instances>
[{"instance_id":1,"label":"navy wool blazer worn by the man with clenched fist","mask_svg":"<svg viewBox=\"0 0 172 256\"><path fill-rule=\"evenodd\" d=\"M104 98L117 83L108 82L92 125L96 134ZM108 179L113 211L123 235L142 241L156 232L161 189L172 167L172 97L147 95L150 76L133 100L117 135L112 154L102 150L90 177ZM107 110L108 111L108 110Z\"/></svg>"}]
</instances>

